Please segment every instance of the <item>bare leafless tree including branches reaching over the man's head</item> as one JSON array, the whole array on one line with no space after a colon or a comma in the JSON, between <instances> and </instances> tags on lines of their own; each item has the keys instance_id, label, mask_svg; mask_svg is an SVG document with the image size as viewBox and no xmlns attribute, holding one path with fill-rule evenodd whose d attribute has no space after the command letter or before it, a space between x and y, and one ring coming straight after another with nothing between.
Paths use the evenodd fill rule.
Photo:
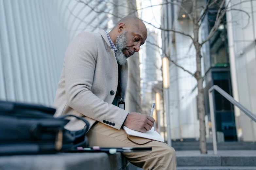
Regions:
<instances>
[{"instance_id":1,"label":"bare leafless tree including branches reaching over the man's head","mask_svg":"<svg viewBox=\"0 0 256 170\"><path fill-rule=\"evenodd\" d=\"M185 7L182 6L182 2L184 2L184 1L186 1L185 3L192 3L192 9L190 11L188 11ZM191 21L191 24L193 25L193 34L184 33L175 28L165 29L162 25L160 27L158 27L150 22L147 22L147 21L144 21L144 22L151 25L154 28L161 30L161 31L173 32L176 34L181 34L183 36L189 37L193 42L193 46L196 51L196 53L195 53L195 55L196 55L196 72L194 72L194 73L192 73L188 69L184 68L183 66L177 64L177 62L172 59L171 55L166 52L167 51L166 49L162 49L162 47L159 47L158 45L156 45L156 46L163 50L163 54L169 59L169 61L171 63L173 63L177 67L181 68L185 72L189 73L197 81L197 91L198 91L197 112L199 115L199 122L200 122L199 149L200 149L201 153L205 154L205 153L207 153L207 147L206 147L206 131L205 131L205 120L204 120L205 119L205 108L204 108L205 99L204 99L203 77L202 77L202 72L201 72L201 70L202 70L201 48L202 48L203 44L205 44L207 41L209 41L211 39L211 37L213 37L213 35L216 33L220 24L222 24L222 22L224 21L224 17L225 17L225 14L227 11L236 10L239 12L243 12L248 16L248 22L249 22L250 15L246 11L237 9L236 7L238 5L240 5L241 3L251 2L254 0L243 0L243 1L241 1L239 3L235 3L235 4L231 4L231 0L207 0L207 2L205 3L204 6L199 6L199 7L197 5L198 1L199 0L174 0L174 1L164 0L162 4L159 4L160 6L173 4L175 6L178 6L180 9L182 9L185 12L185 14L188 16L189 20ZM84 5L88 6L92 11L94 11L96 13L110 14L111 16L113 16L117 19L123 18L123 16L118 16L115 13L110 12L108 10L97 11L94 7L91 7L90 4L88 2L86 2L85 0L77 0L77 2L83 3ZM111 0L105 0L105 2L115 5L115 3ZM152 8L154 6L159 6L159 5L151 5L151 6L140 8L140 9L138 9L137 7L132 6L132 5L126 6L126 5L121 4L120 6L127 7L130 11L128 14L133 14L134 12L137 12L138 10L143 10L145 8ZM213 6L214 6L214 8L217 9L214 25L210 29L208 36L205 39L203 39L202 41L200 41L199 40L199 28L202 23L201 21L205 17L205 15L208 13L208 10L210 8L212 8ZM83 21L81 20L81 22L83 22Z\"/></svg>"}]
</instances>

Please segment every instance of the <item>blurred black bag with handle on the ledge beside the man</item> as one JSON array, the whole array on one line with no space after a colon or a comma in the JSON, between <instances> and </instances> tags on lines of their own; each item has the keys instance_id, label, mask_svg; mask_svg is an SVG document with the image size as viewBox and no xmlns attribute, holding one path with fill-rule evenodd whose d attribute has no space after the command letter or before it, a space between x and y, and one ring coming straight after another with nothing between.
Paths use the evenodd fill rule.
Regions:
<instances>
[{"instance_id":1,"label":"blurred black bag with handle on the ledge beside the man","mask_svg":"<svg viewBox=\"0 0 256 170\"><path fill-rule=\"evenodd\" d=\"M54 118L54 108L17 102L0 101L0 155L55 153L88 147L85 136L89 122L83 118L65 115ZM79 131L64 126L76 117L86 125Z\"/></svg>"}]
</instances>

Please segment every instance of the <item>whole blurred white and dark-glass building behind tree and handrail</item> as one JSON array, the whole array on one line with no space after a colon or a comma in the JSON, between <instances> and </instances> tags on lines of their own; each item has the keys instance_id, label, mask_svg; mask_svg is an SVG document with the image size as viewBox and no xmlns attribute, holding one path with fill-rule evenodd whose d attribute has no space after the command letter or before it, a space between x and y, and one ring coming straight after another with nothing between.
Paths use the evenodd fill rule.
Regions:
<instances>
[{"instance_id":1,"label":"whole blurred white and dark-glass building behind tree and handrail","mask_svg":"<svg viewBox=\"0 0 256 170\"><path fill-rule=\"evenodd\" d=\"M164 3L165 1L163 1ZM240 2L240 1L239 1ZM197 1L197 6L205 6L206 1ZM231 1L230 4L238 3ZM182 1L181 5L191 11L192 4ZM211 119L208 90L218 85L234 97L252 113L256 113L256 51L255 51L255 2L244 2L236 7L249 13L228 11L213 37L203 45L202 74L205 87L206 132L211 141ZM217 10L212 6L202 19L200 34L204 39L214 25ZM198 13L200 14L201 11ZM162 6L163 28L193 35L193 25L179 6ZM162 48L179 65L194 73L196 71L196 52L190 38L172 32L162 31ZM163 56L164 56L163 52ZM199 137L197 115L196 80L187 72L170 63L169 112L171 115L172 139ZM255 141L256 126L243 112L226 100L218 92L214 93L214 113L216 131L224 136L218 141Z\"/></svg>"}]
</instances>

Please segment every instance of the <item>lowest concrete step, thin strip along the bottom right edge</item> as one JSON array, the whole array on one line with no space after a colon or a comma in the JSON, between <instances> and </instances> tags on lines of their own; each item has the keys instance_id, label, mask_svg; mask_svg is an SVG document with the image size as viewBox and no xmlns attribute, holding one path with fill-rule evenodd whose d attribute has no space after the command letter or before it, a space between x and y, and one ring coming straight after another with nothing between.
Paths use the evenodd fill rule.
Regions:
<instances>
[{"instance_id":1,"label":"lowest concrete step, thin strip along the bottom right edge","mask_svg":"<svg viewBox=\"0 0 256 170\"><path fill-rule=\"evenodd\" d=\"M179 166L177 170L256 170L255 166Z\"/></svg>"}]
</instances>

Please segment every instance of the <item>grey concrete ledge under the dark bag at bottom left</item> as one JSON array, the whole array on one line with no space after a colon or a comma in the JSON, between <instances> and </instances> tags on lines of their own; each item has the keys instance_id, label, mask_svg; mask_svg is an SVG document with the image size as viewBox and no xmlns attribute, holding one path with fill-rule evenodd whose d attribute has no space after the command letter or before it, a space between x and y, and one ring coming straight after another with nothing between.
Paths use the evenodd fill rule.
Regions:
<instances>
[{"instance_id":1,"label":"grey concrete ledge under the dark bag at bottom left","mask_svg":"<svg viewBox=\"0 0 256 170\"><path fill-rule=\"evenodd\" d=\"M136 170L121 153L58 153L48 155L1 156L4 170Z\"/></svg>"}]
</instances>

